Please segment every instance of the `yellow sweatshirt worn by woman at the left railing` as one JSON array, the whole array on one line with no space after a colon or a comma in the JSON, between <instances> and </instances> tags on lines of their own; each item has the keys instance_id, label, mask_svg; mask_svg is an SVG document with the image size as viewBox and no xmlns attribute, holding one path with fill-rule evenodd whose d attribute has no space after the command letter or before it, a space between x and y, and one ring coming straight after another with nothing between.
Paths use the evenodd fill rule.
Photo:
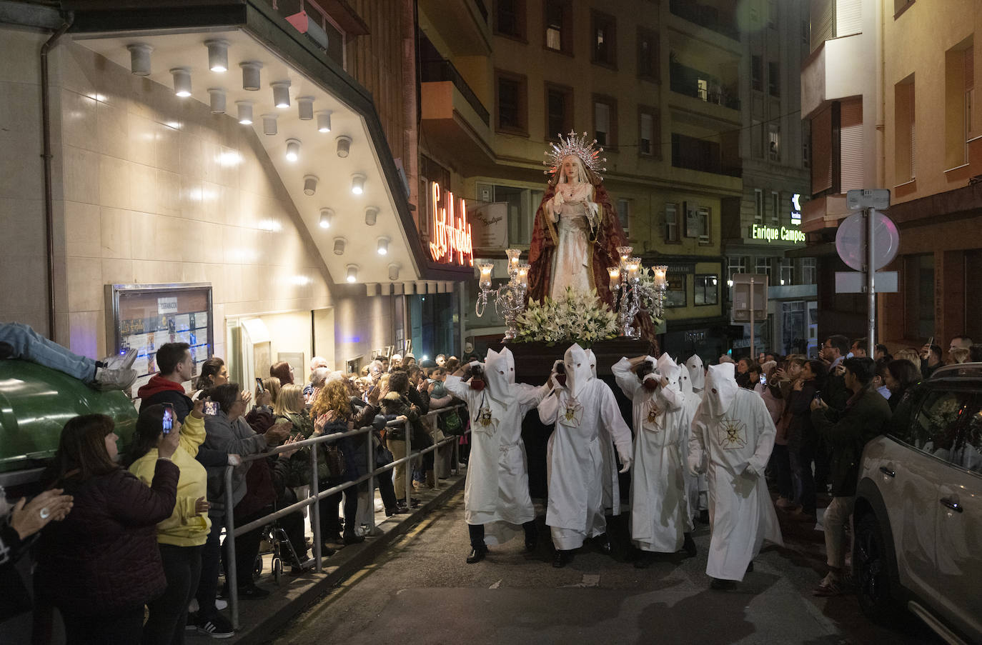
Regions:
<instances>
[{"instance_id":1,"label":"yellow sweatshirt worn by woman at the left railing","mask_svg":"<svg viewBox=\"0 0 982 645\"><path fill-rule=\"evenodd\" d=\"M204 419L189 414L181 426L181 443L171 461L181 469L178 479L178 501L170 517L157 524L157 542L178 547L196 547L208 539L211 520L208 513L198 515L194 503L207 496L208 473L194 456L197 447L204 442ZM130 472L147 486L153 481L157 464L157 449L152 448L130 466Z\"/></svg>"}]
</instances>

